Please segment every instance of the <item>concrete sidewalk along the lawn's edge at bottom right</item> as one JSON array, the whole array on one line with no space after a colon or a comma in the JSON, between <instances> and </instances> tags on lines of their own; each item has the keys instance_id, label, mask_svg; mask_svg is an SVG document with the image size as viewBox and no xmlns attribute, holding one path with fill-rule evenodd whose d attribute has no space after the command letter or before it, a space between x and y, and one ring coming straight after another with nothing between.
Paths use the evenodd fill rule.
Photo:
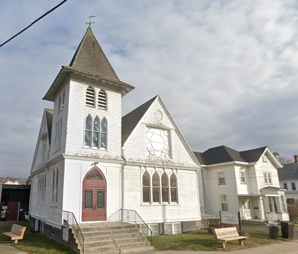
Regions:
<instances>
[{"instance_id":1,"label":"concrete sidewalk along the lawn's edge at bottom right","mask_svg":"<svg viewBox=\"0 0 298 254\"><path fill-rule=\"evenodd\" d=\"M222 251L145 251L142 254L223 254ZM231 254L298 254L298 240L278 244L229 251Z\"/></svg>"}]
</instances>

